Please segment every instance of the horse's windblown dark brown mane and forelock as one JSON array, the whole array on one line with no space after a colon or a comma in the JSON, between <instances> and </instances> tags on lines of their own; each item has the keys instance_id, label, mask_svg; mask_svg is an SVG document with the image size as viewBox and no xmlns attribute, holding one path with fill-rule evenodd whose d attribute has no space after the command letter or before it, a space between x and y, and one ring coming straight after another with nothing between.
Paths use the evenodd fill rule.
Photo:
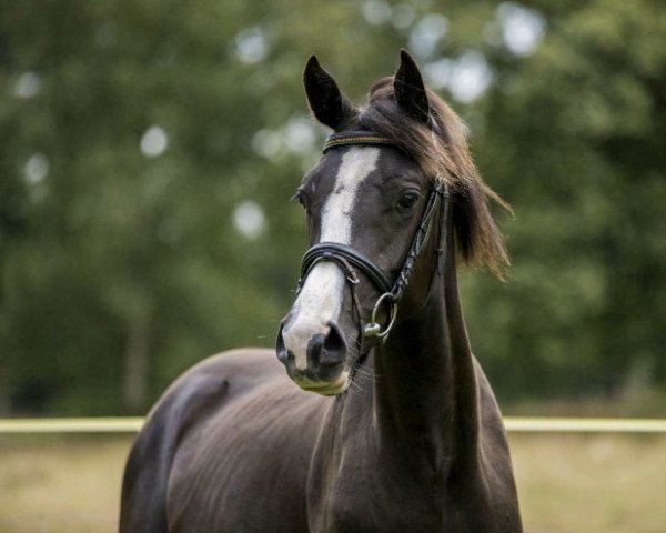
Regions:
<instances>
[{"instance_id":1,"label":"horse's windblown dark brown mane and forelock","mask_svg":"<svg viewBox=\"0 0 666 533\"><path fill-rule=\"evenodd\" d=\"M509 259L487 200L508 211L511 207L481 178L467 148L467 128L458 115L430 89L427 98L430 124L405 113L394 100L393 78L383 78L371 88L359 120L363 129L392 139L428 175L450 187L458 255L464 263L485 266L502 278Z\"/></svg>"}]
</instances>

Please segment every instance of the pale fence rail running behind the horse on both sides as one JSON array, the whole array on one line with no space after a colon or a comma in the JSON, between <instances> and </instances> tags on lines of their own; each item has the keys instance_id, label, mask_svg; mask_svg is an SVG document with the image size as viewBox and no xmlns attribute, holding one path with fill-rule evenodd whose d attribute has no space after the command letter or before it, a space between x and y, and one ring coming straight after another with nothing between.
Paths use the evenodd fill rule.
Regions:
<instances>
[{"instance_id":1,"label":"pale fence rail running behind the horse on both sides","mask_svg":"<svg viewBox=\"0 0 666 533\"><path fill-rule=\"evenodd\" d=\"M664 433L666 419L504 419L511 433ZM0 419L0 434L19 433L135 433L142 418Z\"/></svg>"}]
</instances>

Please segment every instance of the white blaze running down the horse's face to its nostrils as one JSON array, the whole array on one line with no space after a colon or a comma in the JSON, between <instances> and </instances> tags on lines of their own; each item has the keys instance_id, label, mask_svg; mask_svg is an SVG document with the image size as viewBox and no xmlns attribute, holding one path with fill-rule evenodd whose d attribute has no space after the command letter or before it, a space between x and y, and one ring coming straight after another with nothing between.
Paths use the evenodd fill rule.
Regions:
<instances>
[{"instance_id":1,"label":"white blaze running down the horse's face to its nostrils","mask_svg":"<svg viewBox=\"0 0 666 533\"><path fill-rule=\"evenodd\" d=\"M342 157L333 191L322 210L321 241L351 244L352 211L359 185L376 169L380 150L352 148ZM296 369L307 366L307 344L313 335L329 333L329 322L337 319L342 306L344 274L335 263L321 261L307 274L296 299L293 319L282 334L295 358Z\"/></svg>"}]
</instances>

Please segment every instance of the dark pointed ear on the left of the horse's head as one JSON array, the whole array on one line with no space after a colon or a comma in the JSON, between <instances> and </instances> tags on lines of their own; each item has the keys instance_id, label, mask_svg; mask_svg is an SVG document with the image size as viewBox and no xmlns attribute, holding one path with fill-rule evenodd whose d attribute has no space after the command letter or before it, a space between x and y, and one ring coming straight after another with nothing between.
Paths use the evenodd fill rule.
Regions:
<instances>
[{"instance_id":1,"label":"dark pointed ear on the left of the horse's head","mask_svg":"<svg viewBox=\"0 0 666 533\"><path fill-rule=\"evenodd\" d=\"M305 63L303 84L307 103L316 120L336 130L356 114L354 104L340 91L337 83L312 54Z\"/></svg>"}]
</instances>

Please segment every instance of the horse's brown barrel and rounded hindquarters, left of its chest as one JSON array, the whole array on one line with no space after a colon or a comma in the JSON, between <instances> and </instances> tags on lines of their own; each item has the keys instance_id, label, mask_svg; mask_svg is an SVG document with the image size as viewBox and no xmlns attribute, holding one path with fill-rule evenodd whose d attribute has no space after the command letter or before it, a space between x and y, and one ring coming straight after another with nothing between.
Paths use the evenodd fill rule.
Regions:
<instances>
[{"instance_id":1,"label":"horse's brown barrel and rounded hindquarters, left of its chest","mask_svg":"<svg viewBox=\"0 0 666 533\"><path fill-rule=\"evenodd\" d=\"M167 391L132 449L120 531L306 531L317 429L303 422L325 400L295 388L268 350L199 363Z\"/></svg>"}]
</instances>

